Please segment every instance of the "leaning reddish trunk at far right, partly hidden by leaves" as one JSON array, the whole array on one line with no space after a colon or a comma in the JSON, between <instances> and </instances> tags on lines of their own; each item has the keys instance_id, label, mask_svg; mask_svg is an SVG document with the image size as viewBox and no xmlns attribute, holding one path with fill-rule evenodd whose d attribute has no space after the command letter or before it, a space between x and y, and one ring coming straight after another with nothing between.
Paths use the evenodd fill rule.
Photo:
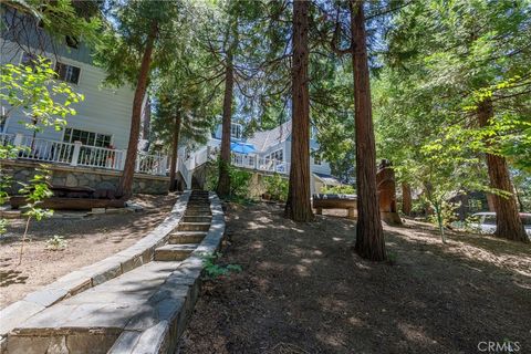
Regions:
<instances>
[{"instance_id":1,"label":"leaning reddish trunk at far right, partly hidden by leaves","mask_svg":"<svg viewBox=\"0 0 531 354\"><path fill-rule=\"evenodd\" d=\"M487 98L478 105L479 125L485 127L490 123L494 112L492 101ZM501 190L504 195L492 195L496 211L494 236L508 240L529 242L522 220L518 214L514 187L509 175L509 167L502 156L486 154L490 187Z\"/></svg>"}]
</instances>

